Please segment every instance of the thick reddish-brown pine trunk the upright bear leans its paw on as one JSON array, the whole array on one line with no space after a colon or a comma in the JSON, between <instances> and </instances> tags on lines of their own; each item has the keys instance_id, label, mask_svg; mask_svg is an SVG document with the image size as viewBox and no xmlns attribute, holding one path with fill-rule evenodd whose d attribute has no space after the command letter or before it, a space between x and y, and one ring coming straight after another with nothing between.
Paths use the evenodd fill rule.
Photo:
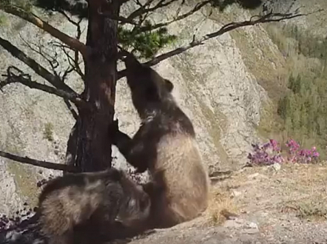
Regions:
<instances>
[{"instance_id":1,"label":"thick reddish-brown pine trunk the upright bear leans its paw on","mask_svg":"<svg viewBox=\"0 0 327 244\"><path fill-rule=\"evenodd\" d=\"M80 171L99 171L111 167L111 138L117 74L117 21L100 12L118 16L120 1L89 0L87 29L88 57L85 65L84 99L91 109L80 109L76 167Z\"/></svg>"}]
</instances>

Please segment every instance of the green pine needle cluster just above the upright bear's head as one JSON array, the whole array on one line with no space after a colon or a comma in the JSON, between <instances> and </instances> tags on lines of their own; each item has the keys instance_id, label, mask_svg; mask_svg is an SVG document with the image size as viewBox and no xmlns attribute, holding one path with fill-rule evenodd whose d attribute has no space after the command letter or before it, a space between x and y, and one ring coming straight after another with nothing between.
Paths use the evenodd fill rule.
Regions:
<instances>
[{"instance_id":1,"label":"green pine needle cluster just above the upright bear's head","mask_svg":"<svg viewBox=\"0 0 327 244\"><path fill-rule=\"evenodd\" d=\"M145 22L144 27L152 29L150 21ZM135 27L132 30L119 27L118 36L124 49L137 51L141 58L152 58L159 49L171 44L177 38L177 36L170 35L166 27L145 32L141 32L140 27Z\"/></svg>"}]
</instances>

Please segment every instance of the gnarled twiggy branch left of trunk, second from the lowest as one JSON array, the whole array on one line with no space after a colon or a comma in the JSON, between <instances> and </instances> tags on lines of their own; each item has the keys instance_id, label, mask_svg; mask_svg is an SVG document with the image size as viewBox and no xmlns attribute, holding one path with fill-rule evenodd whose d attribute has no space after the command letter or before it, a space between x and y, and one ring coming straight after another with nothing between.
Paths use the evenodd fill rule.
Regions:
<instances>
[{"instance_id":1,"label":"gnarled twiggy branch left of trunk, second from the lowest","mask_svg":"<svg viewBox=\"0 0 327 244\"><path fill-rule=\"evenodd\" d=\"M14 74L14 72L17 72L18 74ZM25 86L28 86L30 88L38 89L38 90L43 90L47 93L57 95L58 97L63 97L64 99L69 99L73 103L76 104L76 106L85 106L86 101L82 100L79 95L76 95L75 93L68 93L65 90L59 90L56 89L52 86L47 86L44 84L40 84L38 82L33 82L31 80L30 75L23 73L20 69L14 67L14 66L9 66L7 69L7 75L3 75L6 78L5 81L0 82L0 89L3 88L3 86L10 84L10 83L21 83Z\"/></svg>"}]
</instances>

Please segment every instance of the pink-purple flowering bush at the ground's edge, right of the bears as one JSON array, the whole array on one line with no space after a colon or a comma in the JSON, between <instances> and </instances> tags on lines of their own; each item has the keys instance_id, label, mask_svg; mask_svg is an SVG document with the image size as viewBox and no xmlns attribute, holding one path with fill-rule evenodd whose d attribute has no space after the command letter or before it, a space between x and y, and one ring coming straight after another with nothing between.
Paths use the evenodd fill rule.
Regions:
<instances>
[{"instance_id":1,"label":"pink-purple flowering bush at the ground's edge, right of the bears","mask_svg":"<svg viewBox=\"0 0 327 244\"><path fill-rule=\"evenodd\" d=\"M316 147L309 149L300 149L300 145L293 139L285 143L286 147L289 147L287 151L287 161L298 163L310 163L317 162L319 152ZM247 158L250 160L250 164L258 165L270 165L275 163L284 162L284 158L281 155L281 149L277 141L270 139L268 143L262 145L252 144L253 153L249 154Z\"/></svg>"}]
</instances>

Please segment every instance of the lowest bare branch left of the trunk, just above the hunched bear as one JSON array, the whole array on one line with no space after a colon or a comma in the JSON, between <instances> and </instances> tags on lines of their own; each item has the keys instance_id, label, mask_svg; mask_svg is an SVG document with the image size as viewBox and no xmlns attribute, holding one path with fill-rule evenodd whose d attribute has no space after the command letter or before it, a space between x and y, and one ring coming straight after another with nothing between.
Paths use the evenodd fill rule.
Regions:
<instances>
[{"instance_id":1,"label":"lowest bare branch left of the trunk, just above the hunched bear","mask_svg":"<svg viewBox=\"0 0 327 244\"><path fill-rule=\"evenodd\" d=\"M76 167L72 167L71 165L56 164L54 162L47 162L47 161L35 160L27 157L16 156L14 154L9 154L8 152L5 151L0 151L0 156L3 158L14 160L16 162L22 162L24 164L30 164L38 167L43 167L46 169L56 169L56 170L67 171L71 173L78 172L78 169Z\"/></svg>"}]
</instances>

